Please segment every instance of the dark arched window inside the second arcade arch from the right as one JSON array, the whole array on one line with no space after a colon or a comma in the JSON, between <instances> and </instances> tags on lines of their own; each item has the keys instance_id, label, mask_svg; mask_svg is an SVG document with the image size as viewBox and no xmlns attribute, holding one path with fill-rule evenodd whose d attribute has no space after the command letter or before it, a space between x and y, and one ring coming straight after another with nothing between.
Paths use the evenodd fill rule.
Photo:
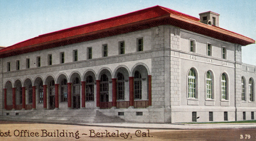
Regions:
<instances>
[{"instance_id":1,"label":"dark arched window inside the second arcade arch from the right","mask_svg":"<svg viewBox=\"0 0 256 141\"><path fill-rule=\"evenodd\" d=\"M125 99L125 78L121 73L117 73L117 100Z\"/></svg>"}]
</instances>

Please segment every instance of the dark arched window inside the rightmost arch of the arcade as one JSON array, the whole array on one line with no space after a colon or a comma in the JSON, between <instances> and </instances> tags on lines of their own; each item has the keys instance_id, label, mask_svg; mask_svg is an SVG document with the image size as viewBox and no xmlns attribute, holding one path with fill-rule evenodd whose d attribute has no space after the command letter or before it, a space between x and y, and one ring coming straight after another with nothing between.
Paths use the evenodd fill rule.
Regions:
<instances>
[{"instance_id":1,"label":"dark arched window inside the rightmost arch of the arcade","mask_svg":"<svg viewBox=\"0 0 256 141\"><path fill-rule=\"evenodd\" d=\"M134 99L141 99L142 88L141 88L141 74L139 71L134 73Z\"/></svg>"}]
</instances>

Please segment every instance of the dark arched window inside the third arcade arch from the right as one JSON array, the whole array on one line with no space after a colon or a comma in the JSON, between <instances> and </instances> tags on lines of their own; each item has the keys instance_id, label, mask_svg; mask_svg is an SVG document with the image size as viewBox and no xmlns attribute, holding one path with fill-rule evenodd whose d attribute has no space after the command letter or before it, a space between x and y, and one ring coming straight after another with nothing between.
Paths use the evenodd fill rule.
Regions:
<instances>
[{"instance_id":1,"label":"dark arched window inside the third arcade arch from the right","mask_svg":"<svg viewBox=\"0 0 256 141\"><path fill-rule=\"evenodd\" d=\"M109 102L109 79L105 74L100 77L100 102Z\"/></svg>"}]
</instances>

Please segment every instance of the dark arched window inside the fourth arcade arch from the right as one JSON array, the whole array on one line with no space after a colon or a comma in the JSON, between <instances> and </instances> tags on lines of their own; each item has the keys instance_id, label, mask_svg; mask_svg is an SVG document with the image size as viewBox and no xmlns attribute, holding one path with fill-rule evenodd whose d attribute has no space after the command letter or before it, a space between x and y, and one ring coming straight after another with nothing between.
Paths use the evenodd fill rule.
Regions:
<instances>
[{"instance_id":1,"label":"dark arched window inside the fourth arcade arch from the right","mask_svg":"<svg viewBox=\"0 0 256 141\"><path fill-rule=\"evenodd\" d=\"M94 81L92 76L87 76L86 78L86 101L94 101Z\"/></svg>"}]
</instances>

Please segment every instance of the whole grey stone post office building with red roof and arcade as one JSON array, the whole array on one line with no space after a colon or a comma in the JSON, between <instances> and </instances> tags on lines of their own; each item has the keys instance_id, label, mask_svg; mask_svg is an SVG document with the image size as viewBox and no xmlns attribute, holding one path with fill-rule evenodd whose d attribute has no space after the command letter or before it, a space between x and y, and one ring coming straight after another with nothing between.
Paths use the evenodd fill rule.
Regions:
<instances>
[{"instance_id":1,"label":"whole grey stone post office building with red roof and arcade","mask_svg":"<svg viewBox=\"0 0 256 141\"><path fill-rule=\"evenodd\" d=\"M1 114L255 119L256 66L241 61L241 46L255 40L219 27L217 13L199 15L154 6L0 49Z\"/></svg>"}]
</instances>

